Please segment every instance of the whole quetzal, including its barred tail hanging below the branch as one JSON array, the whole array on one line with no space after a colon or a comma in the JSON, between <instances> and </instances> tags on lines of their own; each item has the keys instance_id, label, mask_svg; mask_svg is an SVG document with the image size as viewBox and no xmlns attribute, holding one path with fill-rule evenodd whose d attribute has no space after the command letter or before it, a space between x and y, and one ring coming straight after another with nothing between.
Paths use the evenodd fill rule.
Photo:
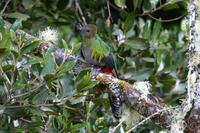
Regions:
<instances>
[{"instance_id":1,"label":"whole quetzal, including its barred tail hanging below the branch","mask_svg":"<svg viewBox=\"0 0 200 133\"><path fill-rule=\"evenodd\" d=\"M111 49L97 34L97 26L88 24L80 29L82 38L81 53L84 60L103 73L117 76L116 64L111 55ZM110 105L115 118L121 116L121 93L120 89L111 90L109 94Z\"/></svg>"}]
</instances>

